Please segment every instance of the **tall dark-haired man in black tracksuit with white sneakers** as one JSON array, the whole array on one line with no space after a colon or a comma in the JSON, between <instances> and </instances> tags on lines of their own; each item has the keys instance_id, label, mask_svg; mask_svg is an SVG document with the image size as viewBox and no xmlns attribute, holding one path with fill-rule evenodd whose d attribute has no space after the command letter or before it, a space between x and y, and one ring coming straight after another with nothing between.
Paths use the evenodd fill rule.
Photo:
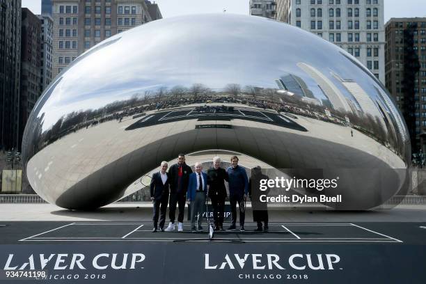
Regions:
<instances>
[{"instance_id":1,"label":"tall dark-haired man in black tracksuit with white sneakers","mask_svg":"<svg viewBox=\"0 0 426 284\"><path fill-rule=\"evenodd\" d=\"M178 155L178 164L174 164L168 170L170 177L170 199L168 200L168 216L170 217L170 223L166 228L166 232L175 230L175 212L176 203L178 203L179 214L178 214L178 231L183 231L183 218L185 211L185 203L187 200L187 189L189 175L192 173L190 166L185 164L185 155Z\"/></svg>"}]
</instances>

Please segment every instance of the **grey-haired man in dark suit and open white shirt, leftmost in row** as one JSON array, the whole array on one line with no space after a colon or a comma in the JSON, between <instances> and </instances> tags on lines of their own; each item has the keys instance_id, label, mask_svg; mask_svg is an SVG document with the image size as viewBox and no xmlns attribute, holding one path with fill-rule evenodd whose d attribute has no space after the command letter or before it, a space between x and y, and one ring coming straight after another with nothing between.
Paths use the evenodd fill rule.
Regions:
<instances>
[{"instance_id":1,"label":"grey-haired man in dark suit and open white shirt, leftmost in row","mask_svg":"<svg viewBox=\"0 0 426 284\"><path fill-rule=\"evenodd\" d=\"M154 204L154 214L152 216L152 222L154 224L154 228L152 232L157 232L157 223L158 223L158 212L160 211L160 223L159 230L161 232L164 231L164 222L166 221L166 210L168 203L168 187L169 180L168 173L166 170L168 168L168 164L166 161L161 162L160 171L154 173L152 175L151 184L150 184L150 193L151 200Z\"/></svg>"}]
</instances>

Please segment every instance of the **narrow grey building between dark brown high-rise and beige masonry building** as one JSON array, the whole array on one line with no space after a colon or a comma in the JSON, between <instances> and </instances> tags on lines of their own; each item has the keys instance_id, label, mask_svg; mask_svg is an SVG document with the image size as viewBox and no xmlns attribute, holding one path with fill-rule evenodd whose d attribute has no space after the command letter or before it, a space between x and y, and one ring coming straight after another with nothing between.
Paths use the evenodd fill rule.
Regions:
<instances>
[{"instance_id":1,"label":"narrow grey building between dark brown high-rise and beige masonry building","mask_svg":"<svg viewBox=\"0 0 426 284\"><path fill-rule=\"evenodd\" d=\"M53 70L53 19L50 15L38 15L41 22L40 89L43 91L52 81Z\"/></svg>"}]
</instances>

